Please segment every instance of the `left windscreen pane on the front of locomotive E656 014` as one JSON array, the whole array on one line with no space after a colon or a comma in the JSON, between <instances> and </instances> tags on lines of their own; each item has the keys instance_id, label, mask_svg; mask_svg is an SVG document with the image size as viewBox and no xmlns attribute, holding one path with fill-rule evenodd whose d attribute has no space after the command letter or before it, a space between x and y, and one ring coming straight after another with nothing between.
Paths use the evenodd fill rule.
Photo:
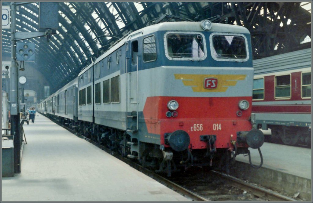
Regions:
<instances>
[{"instance_id":1,"label":"left windscreen pane on the front of locomotive E656 014","mask_svg":"<svg viewBox=\"0 0 313 203\"><path fill-rule=\"evenodd\" d=\"M205 49L202 35L171 33L166 36L167 56L171 60L204 59Z\"/></svg>"}]
</instances>

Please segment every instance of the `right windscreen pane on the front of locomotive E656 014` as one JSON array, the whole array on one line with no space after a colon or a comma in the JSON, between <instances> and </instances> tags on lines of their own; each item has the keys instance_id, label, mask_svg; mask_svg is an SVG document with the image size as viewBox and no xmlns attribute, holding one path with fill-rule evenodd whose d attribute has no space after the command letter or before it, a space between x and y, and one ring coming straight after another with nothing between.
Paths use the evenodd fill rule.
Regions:
<instances>
[{"instance_id":1,"label":"right windscreen pane on the front of locomotive E656 014","mask_svg":"<svg viewBox=\"0 0 313 203\"><path fill-rule=\"evenodd\" d=\"M213 35L213 58L246 59L247 50L245 39L233 35Z\"/></svg>"}]
</instances>

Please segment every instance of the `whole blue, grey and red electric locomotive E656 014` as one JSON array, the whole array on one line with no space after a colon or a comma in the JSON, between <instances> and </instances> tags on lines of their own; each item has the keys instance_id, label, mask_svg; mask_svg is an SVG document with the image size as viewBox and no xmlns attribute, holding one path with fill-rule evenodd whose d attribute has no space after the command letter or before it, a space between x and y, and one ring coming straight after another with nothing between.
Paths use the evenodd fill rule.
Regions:
<instances>
[{"instance_id":1,"label":"whole blue, grey and red electric locomotive E656 014","mask_svg":"<svg viewBox=\"0 0 313 203\"><path fill-rule=\"evenodd\" d=\"M127 34L78 75L78 131L171 175L229 165L264 142L253 129L249 31L166 22Z\"/></svg>"}]
</instances>

